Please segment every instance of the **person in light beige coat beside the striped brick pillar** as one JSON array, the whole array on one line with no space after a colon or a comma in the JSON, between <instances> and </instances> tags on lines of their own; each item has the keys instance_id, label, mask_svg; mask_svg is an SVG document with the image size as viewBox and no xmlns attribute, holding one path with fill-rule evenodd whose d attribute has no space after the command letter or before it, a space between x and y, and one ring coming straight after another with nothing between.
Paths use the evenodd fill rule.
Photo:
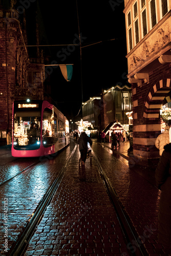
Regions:
<instances>
[{"instance_id":1,"label":"person in light beige coat beside the striped brick pillar","mask_svg":"<svg viewBox=\"0 0 171 256\"><path fill-rule=\"evenodd\" d=\"M164 128L164 132L157 137L155 142L155 146L158 148L160 156L164 151L164 146L168 143L169 143L169 126L166 125Z\"/></svg>"}]
</instances>

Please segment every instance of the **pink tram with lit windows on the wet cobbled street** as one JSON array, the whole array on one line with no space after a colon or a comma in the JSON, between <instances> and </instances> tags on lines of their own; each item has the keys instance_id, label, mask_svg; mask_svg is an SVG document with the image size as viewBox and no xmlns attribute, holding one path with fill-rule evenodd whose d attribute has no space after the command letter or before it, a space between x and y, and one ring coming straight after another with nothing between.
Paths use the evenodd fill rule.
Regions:
<instances>
[{"instance_id":1,"label":"pink tram with lit windows on the wet cobbled street","mask_svg":"<svg viewBox=\"0 0 171 256\"><path fill-rule=\"evenodd\" d=\"M13 157L46 156L70 143L69 121L48 101L14 101L12 118Z\"/></svg>"}]
</instances>

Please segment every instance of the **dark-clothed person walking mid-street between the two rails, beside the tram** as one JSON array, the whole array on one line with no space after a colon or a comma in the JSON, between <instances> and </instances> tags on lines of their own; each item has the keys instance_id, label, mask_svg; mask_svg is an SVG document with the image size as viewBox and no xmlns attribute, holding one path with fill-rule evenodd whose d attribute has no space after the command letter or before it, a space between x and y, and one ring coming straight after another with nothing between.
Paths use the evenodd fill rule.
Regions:
<instances>
[{"instance_id":1,"label":"dark-clothed person walking mid-street between the two rails, beside the tram","mask_svg":"<svg viewBox=\"0 0 171 256\"><path fill-rule=\"evenodd\" d=\"M90 137L85 132L82 132L78 138L79 151L81 154L80 160L82 165L85 165L85 162L86 162L87 152L88 152L88 142L92 146L92 140L90 139Z\"/></svg>"}]
</instances>

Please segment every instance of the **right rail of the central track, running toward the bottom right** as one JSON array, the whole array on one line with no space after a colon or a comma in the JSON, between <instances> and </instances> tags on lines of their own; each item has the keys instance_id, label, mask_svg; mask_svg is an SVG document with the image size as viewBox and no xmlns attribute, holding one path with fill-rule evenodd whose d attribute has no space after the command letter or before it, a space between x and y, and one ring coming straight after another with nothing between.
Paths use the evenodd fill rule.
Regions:
<instances>
[{"instance_id":1,"label":"right rail of the central track, running toward the bottom right","mask_svg":"<svg viewBox=\"0 0 171 256\"><path fill-rule=\"evenodd\" d=\"M148 252L146 251L144 245L140 243L139 241L139 234L135 230L132 221L130 220L129 216L126 214L123 206L121 205L121 202L119 201L119 197L117 195L117 192L115 191L114 187L112 186L109 178L106 176L98 156L93 152L93 157L98 165L98 171L100 174L100 177L106 187L106 190L112 200L112 204L115 208L116 215L120 224L120 227L122 229L122 232L126 238L127 244L129 244L130 248L136 248L136 253L133 252L133 255L148 255ZM133 244L134 242L134 244Z\"/></svg>"}]
</instances>

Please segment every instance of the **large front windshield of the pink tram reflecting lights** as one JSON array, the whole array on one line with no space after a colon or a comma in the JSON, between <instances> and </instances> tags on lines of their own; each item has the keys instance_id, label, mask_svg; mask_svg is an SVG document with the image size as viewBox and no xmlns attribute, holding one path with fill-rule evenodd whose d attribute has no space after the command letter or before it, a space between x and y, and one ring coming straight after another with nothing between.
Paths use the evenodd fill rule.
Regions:
<instances>
[{"instance_id":1,"label":"large front windshield of the pink tram reflecting lights","mask_svg":"<svg viewBox=\"0 0 171 256\"><path fill-rule=\"evenodd\" d=\"M40 144L40 112L16 111L14 113L14 145Z\"/></svg>"}]
</instances>

